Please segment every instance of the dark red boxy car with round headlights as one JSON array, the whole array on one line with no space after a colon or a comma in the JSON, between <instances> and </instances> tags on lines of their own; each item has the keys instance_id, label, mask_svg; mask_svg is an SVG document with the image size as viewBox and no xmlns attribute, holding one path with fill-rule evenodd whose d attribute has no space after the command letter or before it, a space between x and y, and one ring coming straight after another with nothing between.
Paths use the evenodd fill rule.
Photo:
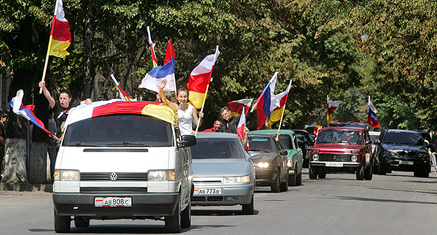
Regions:
<instances>
[{"instance_id":1,"label":"dark red boxy car with round headlights","mask_svg":"<svg viewBox=\"0 0 437 235\"><path fill-rule=\"evenodd\" d=\"M326 127L319 131L310 153L310 179L326 173L356 173L372 180L372 146L367 128Z\"/></svg>"}]
</instances>

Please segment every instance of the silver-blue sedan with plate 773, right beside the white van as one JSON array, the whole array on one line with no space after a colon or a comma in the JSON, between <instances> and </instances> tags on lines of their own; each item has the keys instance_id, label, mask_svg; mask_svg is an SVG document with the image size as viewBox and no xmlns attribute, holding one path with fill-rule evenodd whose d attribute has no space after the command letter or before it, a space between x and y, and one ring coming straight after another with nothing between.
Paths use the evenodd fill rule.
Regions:
<instances>
[{"instance_id":1,"label":"silver-blue sedan with plate 773, right beside the white van","mask_svg":"<svg viewBox=\"0 0 437 235\"><path fill-rule=\"evenodd\" d=\"M242 205L254 214L255 170L236 134L198 133L193 156L193 206Z\"/></svg>"}]
</instances>

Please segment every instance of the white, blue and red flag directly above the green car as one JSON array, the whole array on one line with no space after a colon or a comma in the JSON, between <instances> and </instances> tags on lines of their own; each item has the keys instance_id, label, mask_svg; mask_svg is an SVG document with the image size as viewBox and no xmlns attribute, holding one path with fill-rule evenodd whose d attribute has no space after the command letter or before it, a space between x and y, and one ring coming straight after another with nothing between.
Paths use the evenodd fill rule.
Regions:
<instances>
[{"instance_id":1,"label":"white, blue and red flag directly above the green car","mask_svg":"<svg viewBox=\"0 0 437 235\"><path fill-rule=\"evenodd\" d=\"M263 93L261 93L258 101L258 108L256 109L258 129L261 129L265 124L265 120L267 120L268 115L275 110L275 108L280 106L279 100L275 96L275 86L277 81L278 72L275 72L270 82L265 87Z\"/></svg>"}]
</instances>

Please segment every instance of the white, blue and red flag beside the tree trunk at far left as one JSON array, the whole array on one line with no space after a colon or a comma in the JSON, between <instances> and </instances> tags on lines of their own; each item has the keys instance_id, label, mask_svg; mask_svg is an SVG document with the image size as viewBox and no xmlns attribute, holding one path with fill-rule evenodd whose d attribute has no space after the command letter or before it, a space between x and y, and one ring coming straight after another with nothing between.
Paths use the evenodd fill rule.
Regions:
<instances>
[{"instance_id":1,"label":"white, blue and red flag beside the tree trunk at far left","mask_svg":"<svg viewBox=\"0 0 437 235\"><path fill-rule=\"evenodd\" d=\"M36 118L36 115L34 114L34 108L35 106L32 104L29 104L27 106L22 105L22 97L25 95L25 92L23 90L19 90L17 92L17 95L12 98L11 102L9 102L9 105L12 108L12 111L22 116L23 118L26 118L26 120L29 120L29 122L32 122L36 127L39 127L44 132L46 132L50 137L55 138L55 134L48 131L46 127L44 126L44 123L39 120L39 118Z\"/></svg>"}]
</instances>

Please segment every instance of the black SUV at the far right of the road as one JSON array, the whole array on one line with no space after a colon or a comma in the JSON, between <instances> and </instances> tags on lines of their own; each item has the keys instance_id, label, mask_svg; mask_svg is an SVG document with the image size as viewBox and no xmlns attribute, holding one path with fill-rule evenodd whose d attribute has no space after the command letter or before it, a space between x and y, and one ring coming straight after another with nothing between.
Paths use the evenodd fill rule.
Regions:
<instances>
[{"instance_id":1,"label":"black SUV at the far right of the road","mask_svg":"<svg viewBox=\"0 0 437 235\"><path fill-rule=\"evenodd\" d=\"M430 159L422 134L387 129L376 141L373 167L375 173L381 175L391 171L413 171L414 176L429 177Z\"/></svg>"}]
</instances>

